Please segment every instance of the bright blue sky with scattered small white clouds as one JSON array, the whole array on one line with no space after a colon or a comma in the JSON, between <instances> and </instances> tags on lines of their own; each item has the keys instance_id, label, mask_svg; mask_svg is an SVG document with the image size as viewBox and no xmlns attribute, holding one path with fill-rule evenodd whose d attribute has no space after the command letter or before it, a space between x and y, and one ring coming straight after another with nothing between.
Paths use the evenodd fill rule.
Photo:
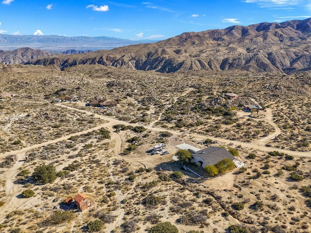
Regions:
<instances>
[{"instance_id":1,"label":"bright blue sky with scattered small white clouds","mask_svg":"<svg viewBox=\"0 0 311 233\"><path fill-rule=\"evenodd\" d=\"M0 0L0 33L162 40L311 17L311 0Z\"/></svg>"}]
</instances>

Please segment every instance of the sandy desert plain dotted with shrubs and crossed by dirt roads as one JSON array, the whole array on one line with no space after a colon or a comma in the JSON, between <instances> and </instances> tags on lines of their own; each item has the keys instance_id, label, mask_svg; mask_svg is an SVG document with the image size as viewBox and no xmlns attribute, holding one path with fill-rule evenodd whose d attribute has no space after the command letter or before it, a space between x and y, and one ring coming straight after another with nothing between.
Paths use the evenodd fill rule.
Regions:
<instances>
[{"instance_id":1,"label":"sandy desert plain dotted with shrubs and crossed by dirt roads","mask_svg":"<svg viewBox=\"0 0 311 233\"><path fill-rule=\"evenodd\" d=\"M310 232L310 72L2 64L0 76L12 93L0 99L1 232ZM201 177L175 160L174 138L235 149L245 166ZM159 143L168 154L150 153Z\"/></svg>"}]
</instances>

